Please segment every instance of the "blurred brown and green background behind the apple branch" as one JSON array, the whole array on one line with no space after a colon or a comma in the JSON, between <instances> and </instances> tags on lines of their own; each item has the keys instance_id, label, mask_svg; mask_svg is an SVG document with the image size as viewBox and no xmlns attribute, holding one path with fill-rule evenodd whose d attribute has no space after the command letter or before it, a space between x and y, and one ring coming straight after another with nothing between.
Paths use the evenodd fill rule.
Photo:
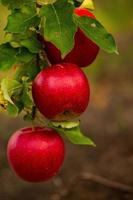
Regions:
<instances>
[{"instance_id":1,"label":"blurred brown and green background behind the apple branch","mask_svg":"<svg viewBox=\"0 0 133 200\"><path fill-rule=\"evenodd\" d=\"M119 47L119 55L101 51L85 70L91 102L81 117L82 130L97 147L66 142L64 165L53 180L24 182L8 166L6 145L10 135L27 124L1 114L0 200L133 199L133 1L95 0L95 6L97 18L113 33ZM0 7L0 41L7 14Z\"/></svg>"}]
</instances>

